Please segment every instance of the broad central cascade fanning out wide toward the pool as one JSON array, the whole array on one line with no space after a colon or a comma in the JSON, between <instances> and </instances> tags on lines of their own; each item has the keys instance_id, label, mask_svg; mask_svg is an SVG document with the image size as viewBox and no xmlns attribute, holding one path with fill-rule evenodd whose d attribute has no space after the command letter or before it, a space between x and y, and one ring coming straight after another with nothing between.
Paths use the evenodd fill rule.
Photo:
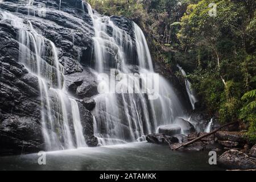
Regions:
<instances>
[{"instance_id":1,"label":"broad central cascade fanning out wide toward the pool","mask_svg":"<svg viewBox=\"0 0 256 182\"><path fill-rule=\"evenodd\" d=\"M121 80L110 76L110 82L121 85L123 92L114 93L110 89L109 92L101 93L94 98L96 101L96 108L93 111L94 134L101 145L144 140L145 135L155 133L158 126L171 124L176 117L183 115L183 107L170 83L162 76L159 76L158 99L148 100L148 94L137 92L140 90L138 80L148 82L149 78L146 75L155 73L141 28L133 23L134 38L132 38L126 31L115 26L109 16L93 13L89 4L87 7L95 32L93 38L95 74L99 77L101 73L106 73L107 76L134 73L134 68L138 72L129 74L127 79ZM134 47L137 49L138 57L135 58L137 61L130 59L133 57ZM112 68L115 68L114 72L110 70ZM104 80L104 76L100 77L100 80ZM127 92L131 89L127 82L134 83L134 93Z\"/></svg>"}]
</instances>

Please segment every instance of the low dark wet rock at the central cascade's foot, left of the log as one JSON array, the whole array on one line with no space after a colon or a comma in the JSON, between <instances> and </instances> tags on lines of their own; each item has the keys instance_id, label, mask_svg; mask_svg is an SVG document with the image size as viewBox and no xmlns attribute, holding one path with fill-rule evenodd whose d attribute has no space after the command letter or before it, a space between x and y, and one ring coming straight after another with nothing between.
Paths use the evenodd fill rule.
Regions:
<instances>
[{"instance_id":1,"label":"low dark wet rock at the central cascade's foot, left of the log","mask_svg":"<svg viewBox=\"0 0 256 182\"><path fill-rule=\"evenodd\" d=\"M166 139L170 143L179 143L178 138L166 136L164 134L155 133L155 134L149 134L146 136L147 142L156 143L156 144L168 144Z\"/></svg>"}]
</instances>

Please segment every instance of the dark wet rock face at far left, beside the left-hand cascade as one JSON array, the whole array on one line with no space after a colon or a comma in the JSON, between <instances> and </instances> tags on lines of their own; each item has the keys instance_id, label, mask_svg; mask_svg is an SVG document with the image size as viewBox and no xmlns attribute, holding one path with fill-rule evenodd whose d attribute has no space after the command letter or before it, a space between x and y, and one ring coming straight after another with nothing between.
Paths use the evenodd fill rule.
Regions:
<instances>
[{"instance_id":1,"label":"dark wet rock face at far left, beside the left-hand cascade","mask_svg":"<svg viewBox=\"0 0 256 182\"><path fill-rule=\"evenodd\" d=\"M2 43L0 47L5 47L15 40ZM38 151L43 148L38 78L11 57L2 56L5 55L0 56L0 154Z\"/></svg>"}]
</instances>

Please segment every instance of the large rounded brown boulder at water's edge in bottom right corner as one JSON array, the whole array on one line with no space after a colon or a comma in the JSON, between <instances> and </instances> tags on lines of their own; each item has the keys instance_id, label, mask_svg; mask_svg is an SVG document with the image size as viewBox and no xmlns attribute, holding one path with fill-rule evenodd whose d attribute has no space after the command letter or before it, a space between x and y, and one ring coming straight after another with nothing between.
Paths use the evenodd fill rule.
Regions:
<instances>
[{"instance_id":1,"label":"large rounded brown boulder at water's edge in bottom right corner","mask_svg":"<svg viewBox=\"0 0 256 182\"><path fill-rule=\"evenodd\" d=\"M256 169L256 161L238 150L224 152L218 158L218 165L227 169Z\"/></svg>"}]
</instances>

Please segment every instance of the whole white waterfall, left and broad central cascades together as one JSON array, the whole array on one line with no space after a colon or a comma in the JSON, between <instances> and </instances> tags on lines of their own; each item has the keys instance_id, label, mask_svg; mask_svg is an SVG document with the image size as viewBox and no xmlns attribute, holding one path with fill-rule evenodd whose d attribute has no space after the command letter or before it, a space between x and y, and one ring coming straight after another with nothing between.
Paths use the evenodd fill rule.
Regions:
<instances>
[{"instance_id":1,"label":"whole white waterfall, left and broad central cascades together","mask_svg":"<svg viewBox=\"0 0 256 182\"><path fill-rule=\"evenodd\" d=\"M110 88L94 96L93 129L98 143L142 141L159 126L170 125L182 117L184 109L172 85L154 72L141 28L131 23L133 31L122 30L109 16L94 13L89 4L88 13L94 28L93 73L103 83L110 76L110 85L117 85L115 88L119 90L113 92ZM55 44L34 28L30 15L20 18L19 13L1 14L2 20L10 21L18 30L19 63L38 77L42 133L47 150L85 147L80 105L65 89L64 67L59 63ZM108 86L108 81L103 86ZM150 99L154 94L157 97Z\"/></svg>"}]
</instances>

